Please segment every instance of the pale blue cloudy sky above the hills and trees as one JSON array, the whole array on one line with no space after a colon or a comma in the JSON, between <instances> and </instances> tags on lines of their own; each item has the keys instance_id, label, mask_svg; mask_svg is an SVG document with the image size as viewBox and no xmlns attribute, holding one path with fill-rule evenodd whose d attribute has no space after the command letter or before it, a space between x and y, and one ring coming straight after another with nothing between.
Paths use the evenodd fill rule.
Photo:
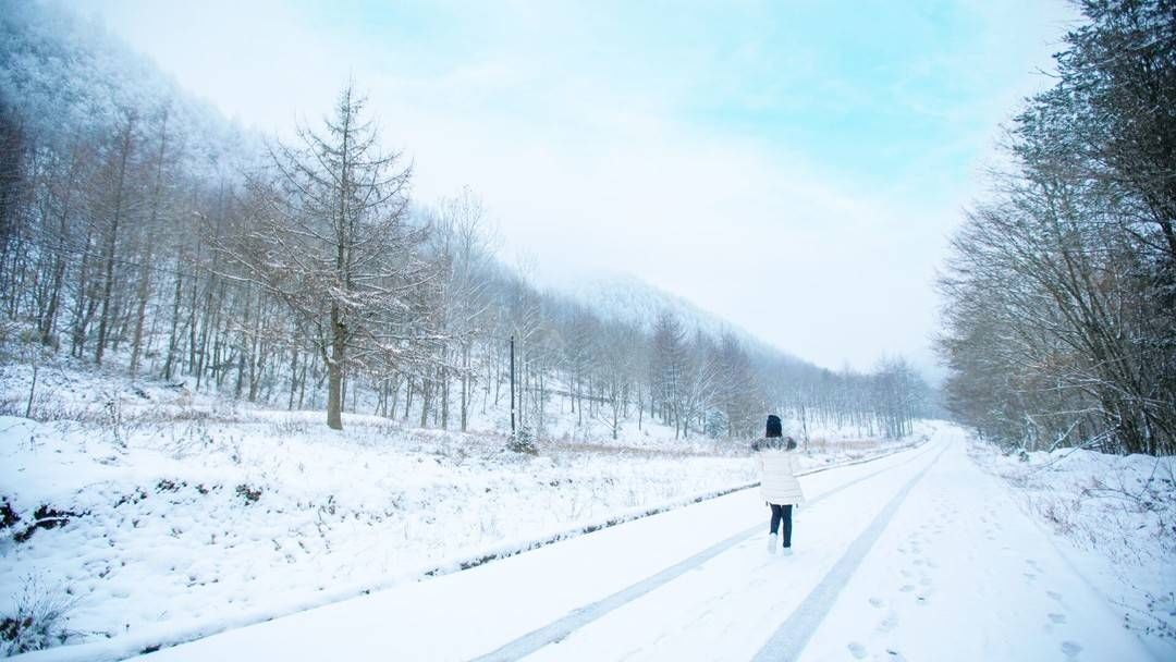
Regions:
<instances>
[{"instance_id":1,"label":"pale blue cloudy sky above the hills and trees","mask_svg":"<svg viewBox=\"0 0 1176 662\"><path fill-rule=\"evenodd\" d=\"M288 133L353 76L425 201L463 185L541 277L626 272L829 367L933 361L934 268L1060 0L81 0Z\"/></svg>"}]
</instances>

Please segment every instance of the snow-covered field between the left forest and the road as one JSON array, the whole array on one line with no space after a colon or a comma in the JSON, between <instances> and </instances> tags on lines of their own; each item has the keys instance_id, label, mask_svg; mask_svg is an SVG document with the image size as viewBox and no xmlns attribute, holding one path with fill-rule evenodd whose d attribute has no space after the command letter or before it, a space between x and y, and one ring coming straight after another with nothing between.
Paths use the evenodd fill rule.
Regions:
<instances>
[{"instance_id":1,"label":"snow-covered field between the left forest and the road","mask_svg":"<svg viewBox=\"0 0 1176 662\"><path fill-rule=\"evenodd\" d=\"M24 413L29 377L6 368L7 412ZM44 368L39 382L46 420L0 417L0 614L68 603L68 643L215 631L755 480L742 443L567 435L524 455L493 434L362 415L338 433L318 412L160 383ZM815 442L804 462L901 446Z\"/></svg>"}]
</instances>

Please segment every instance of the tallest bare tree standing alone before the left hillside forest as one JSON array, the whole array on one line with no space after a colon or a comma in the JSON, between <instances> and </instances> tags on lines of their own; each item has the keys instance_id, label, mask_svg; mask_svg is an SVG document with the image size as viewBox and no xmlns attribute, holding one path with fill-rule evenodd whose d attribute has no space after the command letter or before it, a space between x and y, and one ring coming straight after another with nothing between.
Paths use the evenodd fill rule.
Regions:
<instances>
[{"instance_id":1,"label":"tallest bare tree standing alone before the left hillside forest","mask_svg":"<svg viewBox=\"0 0 1176 662\"><path fill-rule=\"evenodd\" d=\"M296 146L274 148L273 176L252 181L249 218L222 245L242 277L313 329L335 429L349 361L395 360L413 322L409 293L428 277L414 255L422 232L406 223L410 169L381 152L363 105L348 86L321 133L301 129Z\"/></svg>"}]
</instances>

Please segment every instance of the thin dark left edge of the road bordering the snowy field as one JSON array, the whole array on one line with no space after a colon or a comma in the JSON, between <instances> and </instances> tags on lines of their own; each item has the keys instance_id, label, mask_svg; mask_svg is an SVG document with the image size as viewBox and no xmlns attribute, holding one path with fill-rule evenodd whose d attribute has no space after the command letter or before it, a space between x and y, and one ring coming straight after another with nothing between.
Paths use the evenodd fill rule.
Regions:
<instances>
[{"instance_id":1,"label":"thin dark left edge of the road bordering the snowy field","mask_svg":"<svg viewBox=\"0 0 1176 662\"><path fill-rule=\"evenodd\" d=\"M877 455L870 455L869 457L860 457L847 462L834 462L824 467L807 469L804 472L799 473L797 475L807 476L813 474L820 474L823 472L830 472L834 469L842 469L846 467L876 462L878 460L898 455L901 453L918 450L926 447L928 443L930 443L930 441L931 437L929 435L924 435L923 439L917 443L903 446L902 448L896 448L893 450L887 450L886 453L880 453ZM189 623L186 626L174 627L173 629L169 629L167 631L147 631L138 635L127 635L125 637L114 637L109 640L92 641L86 643L59 646L45 650L36 650L22 655L16 655L11 660L19 660L24 662L34 662L34 661L35 662L51 662L51 661L52 662L75 662L75 661L116 662L138 655L155 653L156 650L163 648L181 646L223 631L273 621L275 618L289 616L292 614L298 614L300 611L307 611L309 609L325 607L327 604L334 604L336 602L350 600L353 597L360 597L363 595L369 595L375 591L387 590L396 586L402 586L405 583L417 582L427 580L429 577L460 573L462 570L468 570L470 568L485 566L486 563L489 563L492 561L509 559L512 556L517 556L520 554L524 554L527 551L539 549L541 547L554 544L556 542L561 542L573 537L579 537L581 535L587 535L594 531L616 527L628 522L634 522L646 517L652 517L654 515L660 515L662 513L668 513L670 510L676 510L679 508L684 508L687 506L693 506L695 503L702 503L703 501L720 499L722 496L735 494L737 492L742 492L746 489L751 489L759 486L760 482L756 481L751 483L739 484L735 487L729 487L717 490L696 493L690 496L675 499L668 502L662 502L656 506L635 508L628 511L620 513L612 517L607 517L604 520L570 527L568 529L542 535L532 539L529 541L508 543L499 548L492 547L489 549L483 549L473 555L459 556L445 560L436 564L426 566L423 568L417 568L415 570L409 570L407 573L397 574L393 577L389 577L381 582L376 582L374 584L366 582L363 584L349 584L345 587L339 587L333 590L325 590L310 595L308 599L288 603L286 608L274 609L272 607L269 608L262 607L253 611L240 614L232 618ZM740 535L742 536L743 534Z\"/></svg>"}]
</instances>

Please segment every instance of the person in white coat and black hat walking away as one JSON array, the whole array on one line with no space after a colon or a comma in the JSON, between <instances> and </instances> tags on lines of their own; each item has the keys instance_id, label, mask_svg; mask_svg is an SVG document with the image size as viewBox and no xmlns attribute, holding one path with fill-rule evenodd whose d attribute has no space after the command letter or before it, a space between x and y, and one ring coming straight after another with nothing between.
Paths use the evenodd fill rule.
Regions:
<instances>
[{"instance_id":1,"label":"person in white coat and black hat walking away","mask_svg":"<svg viewBox=\"0 0 1176 662\"><path fill-rule=\"evenodd\" d=\"M796 480L796 441L783 436L780 416L768 416L763 439L751 444L760 462L760 494L771 508L768 551L776 553L777 531L783 524L784 555L793 554L793 507L804 502L804 493Z\"/></svg>"}]
</instances>

